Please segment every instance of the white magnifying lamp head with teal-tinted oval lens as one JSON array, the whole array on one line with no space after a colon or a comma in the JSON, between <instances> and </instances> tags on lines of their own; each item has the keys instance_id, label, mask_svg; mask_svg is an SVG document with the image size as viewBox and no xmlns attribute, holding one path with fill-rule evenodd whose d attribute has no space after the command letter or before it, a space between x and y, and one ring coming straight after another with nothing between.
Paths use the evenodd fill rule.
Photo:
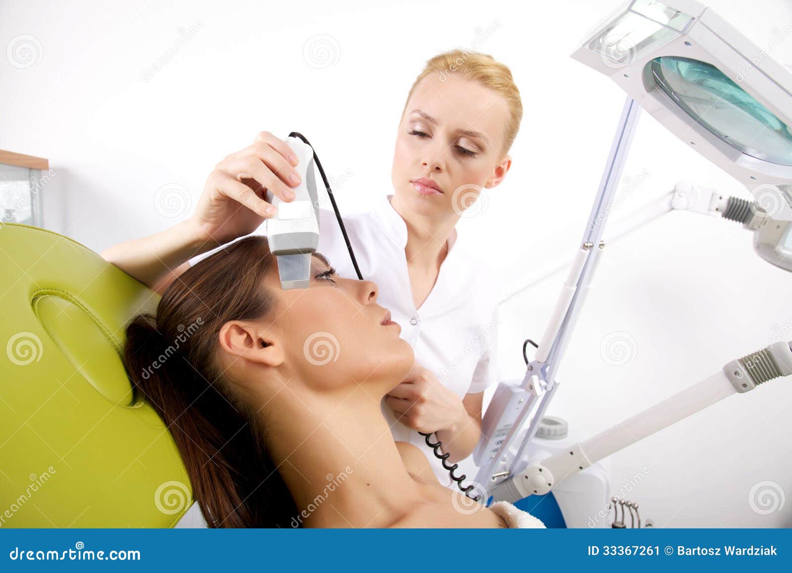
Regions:
<instances>
[{"instance_id":1,"label":"white magnifying lamp head with teal-tinted oval lens","mask_svg":"<svg viewBox=\"0 0 792 573\"><path fill-rule=\"evenodd\" d=\"M792 270L792 69L695 0L632 0L572 57L609 76L754 197L727 218Z\"/></svg>"}]
</instances>

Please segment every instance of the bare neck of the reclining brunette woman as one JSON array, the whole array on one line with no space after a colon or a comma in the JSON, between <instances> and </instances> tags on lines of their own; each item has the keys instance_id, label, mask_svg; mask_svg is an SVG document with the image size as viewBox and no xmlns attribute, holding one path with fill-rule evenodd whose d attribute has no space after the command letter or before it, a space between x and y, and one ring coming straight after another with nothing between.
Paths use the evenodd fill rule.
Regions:
<instances>
[{"instance_id":1,"label":"bare neck of the reclining brunette woman","mask_svg":"<svg viewBox=\"0 0 792 573\"><path fill-rule=\"evenodd\" d=\"M386 527L420 501L366 385L299 399L284 391L262 410L278 428L271 451L297 506L292 527Z\"/></svg>"}]
</instances>

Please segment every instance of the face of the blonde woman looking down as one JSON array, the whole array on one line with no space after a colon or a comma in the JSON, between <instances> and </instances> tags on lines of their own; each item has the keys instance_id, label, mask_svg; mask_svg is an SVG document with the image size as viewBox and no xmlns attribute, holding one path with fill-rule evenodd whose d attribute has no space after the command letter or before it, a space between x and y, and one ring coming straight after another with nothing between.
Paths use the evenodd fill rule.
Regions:
<instances>
[{"instance_id":1,"label":"face of the blonde woman looking down","mask_svg":"<svg viewBox=\"0 0 792 573\"><path fill-rule=\"evenodd\" d=\"M398 127L391 179L394 200L422 216L459 216L482 188L498 185L510 164L501 156L508 124L505 99L455 75L431 74L407 102ZM425 194L428 178L441 193Z\"/></svg>"}]
</instances>

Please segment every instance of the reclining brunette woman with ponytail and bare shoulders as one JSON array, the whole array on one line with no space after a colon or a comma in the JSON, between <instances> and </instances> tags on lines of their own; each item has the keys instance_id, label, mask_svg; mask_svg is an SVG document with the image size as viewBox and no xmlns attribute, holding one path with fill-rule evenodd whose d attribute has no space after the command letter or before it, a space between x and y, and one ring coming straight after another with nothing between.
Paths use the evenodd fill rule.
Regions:
<instances>
[{"instance_id":1,"label":"reclining brunette woman with ponytail and bare shoulders","mask_svg":"<svg viewBox=\"0 0 792 573\"><path fill-rule=\"evenodd\" d=\"M438 483L380 400L415 365L371 281L312 257L282 290L267 239L229 243L127 328L124 365L168 426L210 527L543 527ZM165 359L163 360L163 357Z\"/></svg>"}]
</instances>

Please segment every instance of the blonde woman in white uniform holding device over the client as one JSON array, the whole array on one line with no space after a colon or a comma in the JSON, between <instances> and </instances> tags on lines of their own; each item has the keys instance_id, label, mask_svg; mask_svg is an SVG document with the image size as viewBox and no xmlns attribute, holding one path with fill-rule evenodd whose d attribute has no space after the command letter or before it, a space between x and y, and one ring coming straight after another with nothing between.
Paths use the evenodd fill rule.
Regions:
<instances>
[{"instance_id":1,"label":"blonde woman in white uniform holding device over the client","mask_svg":"<svg viewBox=\"0 0 792 573\"><path fill-rule=\"evenodd\" d=\"M457 244L456 223L506 177L522 113L511 72L492 56L454 50L429 59L398 124L393 193L371 212L345 217L360 271L379 285L379 302L417 364L387 393L383 413L394 439L421 449L447 487L456 484L418 432L436 433L449 462L463 460L481 437L483 392L497 382L497 284ZM102 256L163 292L190 262L264 232L274 212L264 189L291 201L295 162L282 139L261 132L215 166L188 220ZM338 276L356 278L333 212L322 211L320 233L319 250Z\"/></svg>"}]
</instances>

